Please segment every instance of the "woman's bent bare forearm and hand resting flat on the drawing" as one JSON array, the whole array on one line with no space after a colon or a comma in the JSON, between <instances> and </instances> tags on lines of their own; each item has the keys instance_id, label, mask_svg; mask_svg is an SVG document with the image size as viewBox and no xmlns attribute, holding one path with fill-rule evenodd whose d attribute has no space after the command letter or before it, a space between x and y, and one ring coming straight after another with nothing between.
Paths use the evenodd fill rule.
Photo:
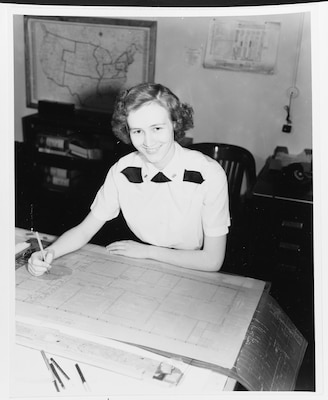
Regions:
<instances>
[{"instance_id":1,"label":"woman's bent bare forearm and hand resting flat on the drawing","mask_svg":"<svg viewBox=\"0 0 328 400\"><path fill-rule=\"evenodd\" d=\"M149 258L167 264L199 271L218 271L224 261L227 235L205 236L201 250L180 250L122 240L109 244L110 254L133 258Z\"/></svg>"}]
</instances>

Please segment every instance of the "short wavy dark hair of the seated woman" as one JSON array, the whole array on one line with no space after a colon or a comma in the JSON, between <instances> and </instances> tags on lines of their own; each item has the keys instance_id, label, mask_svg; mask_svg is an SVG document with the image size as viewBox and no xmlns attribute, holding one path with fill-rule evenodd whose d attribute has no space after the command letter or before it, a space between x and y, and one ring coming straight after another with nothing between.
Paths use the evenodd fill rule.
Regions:
<instances>
[{"instance_id":1,"label":"short wavy dark hair of the seated woman","mask_svg":"<svg viewBox=\"0 0 328 400\"><path fill-rule=\"evenodd\" d=\"M174 123L174 139L180 141L188 129L193 128L193 109L167 87L157 83L142 83L128 90L122 90L115 101L112 116L114 135L126 144L131 144L127 117L131 111L150 103L164 107Z\"/></svg>"}]
</instances>

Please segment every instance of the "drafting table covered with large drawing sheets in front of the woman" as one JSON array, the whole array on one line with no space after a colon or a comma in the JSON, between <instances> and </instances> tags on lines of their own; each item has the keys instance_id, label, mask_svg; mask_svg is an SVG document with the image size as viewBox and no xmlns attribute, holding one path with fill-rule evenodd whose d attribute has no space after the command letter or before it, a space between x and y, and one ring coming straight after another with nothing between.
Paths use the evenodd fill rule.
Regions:
<instances>
[{"instance_id":1,"label":"drafting table covered with large drawing sheets in front of the woman","mask_svg":"<svg viewBox=\"0 0 328 400\"><path fill-rule=\"evenodd\" d=\"M26 233L17 229L16 238L24 241ZM41 349L64 365L77 360L94 376L92 390L102 394L213 394L236 379L250 390L292 390L306 342L263 296L264 287L251 278L113 257L87 245L55 260L39 278L17 267L17 359L30 353L46 374ZM258 365L266 353L270 362ZM182 372L178 383L167 385L170 374L168 382L150 379L161 361ZM104 388L99 379L118 387ZM54 390L49 377L47 383Z\"/></svg>"}]
</instances>

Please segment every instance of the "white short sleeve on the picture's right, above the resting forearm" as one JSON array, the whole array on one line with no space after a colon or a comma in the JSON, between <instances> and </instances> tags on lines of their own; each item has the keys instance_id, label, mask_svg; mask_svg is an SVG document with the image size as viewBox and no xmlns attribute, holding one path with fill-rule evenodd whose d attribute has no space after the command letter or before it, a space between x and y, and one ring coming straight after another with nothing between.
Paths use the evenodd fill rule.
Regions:
<instances>
[{"instance_id":1,"label":"white short sleeve on the picture's right, above the resting forearm","mask_svg":"<svg viewBox=\"0 0 328 400\"><path fill-rule=\"evenodd\" d=\"M205 195L202 210L203 230L206 236L222 236L230 226L227 176L221 165L208 160Z\"/></svg>"}]
</instances>

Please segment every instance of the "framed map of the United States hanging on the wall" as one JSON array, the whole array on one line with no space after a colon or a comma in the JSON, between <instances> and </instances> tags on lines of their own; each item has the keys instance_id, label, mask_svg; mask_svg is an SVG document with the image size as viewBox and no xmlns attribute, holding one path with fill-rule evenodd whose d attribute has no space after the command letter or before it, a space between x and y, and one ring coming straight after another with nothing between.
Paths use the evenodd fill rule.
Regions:
<instances>
[{"instance_id":1,"label":"framed map of the United States hanging on the wall","mask_svg":"<svg viewBox=\"0 0 328 400\"><path fill-rule=\"evenodd\" d=\"M155 73L156 21L24 16L26 103L108 112L116 94Z\"/></svg>"}]
</instances>

